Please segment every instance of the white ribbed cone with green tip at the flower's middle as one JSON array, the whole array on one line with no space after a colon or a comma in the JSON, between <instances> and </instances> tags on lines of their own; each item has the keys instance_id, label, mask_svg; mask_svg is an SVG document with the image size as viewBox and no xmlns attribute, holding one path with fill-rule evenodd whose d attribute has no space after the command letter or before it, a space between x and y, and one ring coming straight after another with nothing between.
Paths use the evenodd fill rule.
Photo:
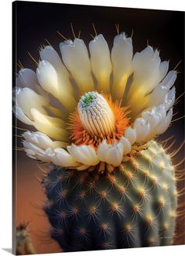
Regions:
<instances>
[{"instance_id":1,"label":"white ribbed cone with green tip at the flower's middle","mask_svg":"<svg viewBox=\"0 0 185 256\"><path fill-rule=\"evenodd\" d=\"M82 126L92 137L111 136L114 133L114 114L100 93L85 93L78 102L78 115Z\"/></svg>"}]
</instances>

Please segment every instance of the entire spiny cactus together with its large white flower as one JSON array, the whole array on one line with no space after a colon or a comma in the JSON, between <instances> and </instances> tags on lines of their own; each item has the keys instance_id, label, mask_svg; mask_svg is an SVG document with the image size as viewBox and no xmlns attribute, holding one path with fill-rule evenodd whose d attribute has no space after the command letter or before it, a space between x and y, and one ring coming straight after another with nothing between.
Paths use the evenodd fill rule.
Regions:
<instances>
[{"instance_id":1,"label":"entire spiny cactus together with its large white flower","mask_svg":"<svg viewBox=\"0 0 185 256\"><path fill-rule=\"evenodd\" d=\"M22 134L24 151L53 168L42 181L52 237L63 251L171 245L183 144L156 138L172 121L177 71L151 46L133 54L118 27L111 51L94 31L88 48L74 36L61 57L40 49L36 73L16 79L16 118L37 130Z\"/></svg>"}]
</instances>

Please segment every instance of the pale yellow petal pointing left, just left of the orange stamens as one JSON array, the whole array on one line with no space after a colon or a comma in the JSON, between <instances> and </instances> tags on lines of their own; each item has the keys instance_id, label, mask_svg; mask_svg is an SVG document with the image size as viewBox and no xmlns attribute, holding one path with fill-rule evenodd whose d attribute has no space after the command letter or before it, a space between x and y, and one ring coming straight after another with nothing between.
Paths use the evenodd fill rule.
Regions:
<instances>
[{"instance_id":1,"label":"pale yellow petal pointing left, just left of the orange stamens","mask_svg":"<svg viewBox=\"0 0 185 256\"><path fill-rule=\"evenodd\" d=\"M51 119L48 119L47 116L42 115L41 112L38 112L37 109L31 108L31 115L33 116L34 123L33 126L41 131L42 133L45 133L49 137L52 137L53 139L60 140L60 141L69 141L68 136L69 133L67 130L64 130L60 127L59 123L52 123Z\"/></svg>"}]
</instances>

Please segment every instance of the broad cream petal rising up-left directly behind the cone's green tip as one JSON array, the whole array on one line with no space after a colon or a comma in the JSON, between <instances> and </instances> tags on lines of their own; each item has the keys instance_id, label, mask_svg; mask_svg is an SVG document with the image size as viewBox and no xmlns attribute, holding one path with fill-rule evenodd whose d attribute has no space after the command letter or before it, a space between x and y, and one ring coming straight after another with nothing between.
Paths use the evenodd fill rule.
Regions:
<instances>
[{"instance_id":1,"label":"broad cream petal rising up-left directly behind the cone's green tip","mask_svg":"<svg viewBox=\"0 0 185 256\"><path fill-rule=\"evenodd\" d=\"M82 39L74 38L74 42L60 43L63 63L71 71L82 93L94 90L89 53Z\"/></svg>"}]
</instances>

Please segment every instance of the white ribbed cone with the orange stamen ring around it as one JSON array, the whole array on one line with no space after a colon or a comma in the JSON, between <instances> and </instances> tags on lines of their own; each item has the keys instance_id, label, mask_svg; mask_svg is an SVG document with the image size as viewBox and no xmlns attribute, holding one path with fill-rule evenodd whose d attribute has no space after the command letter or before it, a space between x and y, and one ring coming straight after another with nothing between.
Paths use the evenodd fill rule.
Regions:
<instances>
[{"instance_id":1,"label":"white ribbed cone with the orange stamen ring around it","mask_svg":"<svg viewBox=\"0 0 185 256\"><path fill-rule=\"evenodd\" d=\"M113 102L108 95L85 93L78 102L78 108L69 116L67 128L71 141L97 148L103 140L108 144L119 140L129 126L129 110L121 104L122 101Z\"/></svg>"}]
</instances>

